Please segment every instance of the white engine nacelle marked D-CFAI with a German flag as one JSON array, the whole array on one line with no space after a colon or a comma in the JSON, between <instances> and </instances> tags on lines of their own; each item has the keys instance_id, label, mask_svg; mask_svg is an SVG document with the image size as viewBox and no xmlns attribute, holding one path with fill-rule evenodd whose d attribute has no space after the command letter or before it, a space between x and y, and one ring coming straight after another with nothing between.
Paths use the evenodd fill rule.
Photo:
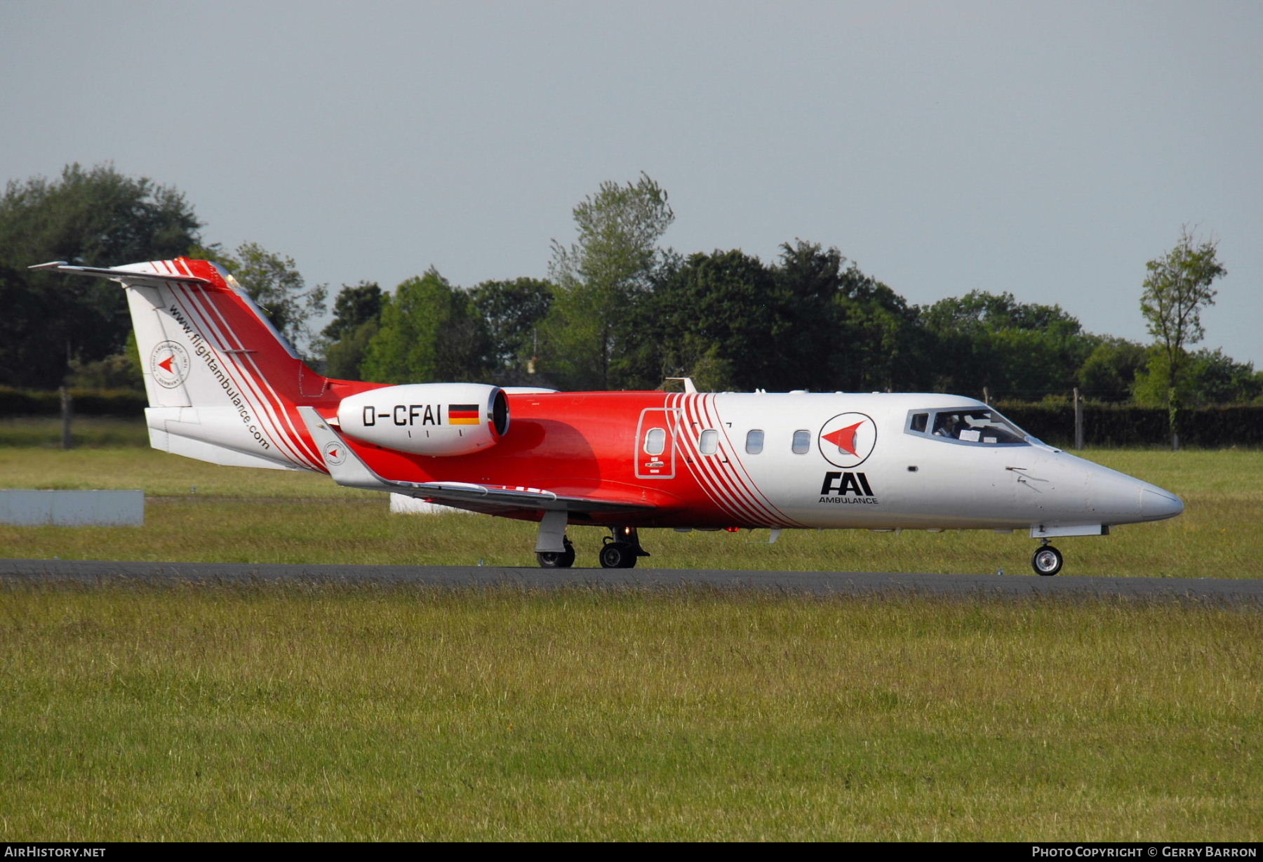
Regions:
<instances>
[{"instance_id":1,"label":"white engine nacelle marked D-CFAI with a German flag","mask_svg":"<svg viewBox=\"0 0 1263 862\"><path fill-rule=\"evenodd\" d=\"M482 383L408 383L370 389L337 406L342 434L418 455L469 455L509 430L509 399Z\"/></svg>"}]
</instances>

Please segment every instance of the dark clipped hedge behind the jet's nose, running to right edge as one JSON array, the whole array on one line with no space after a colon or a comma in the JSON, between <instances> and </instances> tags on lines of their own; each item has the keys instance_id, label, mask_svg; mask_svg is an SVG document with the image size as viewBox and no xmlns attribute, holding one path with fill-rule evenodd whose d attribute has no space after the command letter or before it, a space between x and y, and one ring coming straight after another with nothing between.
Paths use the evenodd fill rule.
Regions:
<instances>
[{"instance_id":1,"label":"dark clipped hedge behind the jet's nose, running to right edge","mask_svg":"<svg viewBox=\"0 0 1263 862\"><path fill-rule=\"evenodd\" d=\"M1055 446L1075 442L1075 408L1048 404L998 404L1023 430ZM1164 407L1084 404L1087 446L1161 446L1171 442ZM1263 445L1263 407L1197 407L1181 411L1180 444L1185 446Z\"/></svg>"}]
</instances>

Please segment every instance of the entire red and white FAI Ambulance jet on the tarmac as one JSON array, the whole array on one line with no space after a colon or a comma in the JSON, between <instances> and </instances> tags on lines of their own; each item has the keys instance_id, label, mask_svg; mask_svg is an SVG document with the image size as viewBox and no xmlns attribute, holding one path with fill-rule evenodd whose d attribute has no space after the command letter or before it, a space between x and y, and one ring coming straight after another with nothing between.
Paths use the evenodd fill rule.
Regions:
<instances>
[{"instance_id":1,"label":"entire red and white FAI Ambulance jet on the tarmac","mask_svg":"<svg viewBox=\"0 0 1263 862\"><path fill-rule=\"evenodd\" d=\"M335 380L213 263L33 269L124 286L155 449L538 521L542 566L573 564L571 523L610 530L608 569L648 556L642 527L1029 530L1034 570L1055 575L1050 538L1183 511L973 398Z\"/></svg>"}]
</instances>

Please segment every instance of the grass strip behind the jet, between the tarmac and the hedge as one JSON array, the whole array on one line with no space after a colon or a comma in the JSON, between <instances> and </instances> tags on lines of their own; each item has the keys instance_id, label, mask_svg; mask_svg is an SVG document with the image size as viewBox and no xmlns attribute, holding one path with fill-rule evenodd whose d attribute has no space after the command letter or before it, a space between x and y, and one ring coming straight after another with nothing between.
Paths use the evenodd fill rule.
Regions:
<instances>
[{"instance_id":1,"label":"grass strip behind the jet, between the tarmac and the hedge","mask_svg":"<svg viewBox=\"0 0 1263 862\"><path fill-rule=\"evenodd\" d=\"M0 440L4 427L0 423ZM1180 494L1186 512L1113 536L1058 540L1061 576L1263 578L1263 455L1258 451L1095 450L1085 456ZM9 557L211 562L534 565L536 526L482 516L386 514L386 497L327 477L220 468L136 446L0 447L9 488L141 488L147 523L128 527L4 527ZM604 531L571 528L578 565L595 565ZM676 533L654 530L643 565L1028 574L1023 533L787 531Z\"/></svg>"}]
</instances>

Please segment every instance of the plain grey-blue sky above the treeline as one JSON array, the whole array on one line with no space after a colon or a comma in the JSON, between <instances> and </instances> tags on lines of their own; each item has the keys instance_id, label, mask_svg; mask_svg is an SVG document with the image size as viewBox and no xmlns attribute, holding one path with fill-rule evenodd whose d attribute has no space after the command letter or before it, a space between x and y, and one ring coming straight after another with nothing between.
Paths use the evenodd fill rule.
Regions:
<instances>
[{"instance_id":1,"label":"plain grey-blue sky above the treeline","mask_svg":"<svg viewBox=\"0 0 1263 862\"><path fill-rule=\"evenodd\" d=\"M1258 0L0 0L0 178L110 161L335 288L546 276L644 171L678 252L802 238L1143 341L1144 263L1196 226L1205 346L1263 367Z\"/></svg>"}]
</instances>

